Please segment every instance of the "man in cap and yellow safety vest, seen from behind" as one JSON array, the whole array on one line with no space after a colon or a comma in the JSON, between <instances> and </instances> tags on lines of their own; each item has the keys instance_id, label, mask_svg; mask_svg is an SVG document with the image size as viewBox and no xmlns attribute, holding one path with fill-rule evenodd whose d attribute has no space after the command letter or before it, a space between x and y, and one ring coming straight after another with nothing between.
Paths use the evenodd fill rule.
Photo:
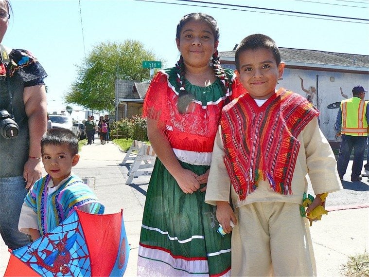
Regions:
<instances>
[{"instance_id":1,"label":"man in cap and yellow safety vest, seen from behind","mask_svg":"<svg viewBox=\"0 0 369 277\"><path fill-rule=\"evenodd\" d=\"M352 89L352 98L341 101L334 129L342 134L341 147L339 148L337 169L341 180L349 164L353 149L353 164L351 182L361 181L364 151L367 146L369 105L364 101L365 93L362 86Z\"/></svg>"}]
</instances>

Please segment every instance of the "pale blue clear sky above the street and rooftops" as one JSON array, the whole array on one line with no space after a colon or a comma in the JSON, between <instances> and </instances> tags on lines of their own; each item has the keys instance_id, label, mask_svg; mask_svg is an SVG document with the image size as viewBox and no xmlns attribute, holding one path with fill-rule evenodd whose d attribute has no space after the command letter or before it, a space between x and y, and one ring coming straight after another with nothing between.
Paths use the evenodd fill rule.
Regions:
<instances>
[{"instance_id":1,"label":"pale blue clear sky above the street and rooftops","mask_svg":"<svg viewBox=\"0 0 369 277\"><path fill-rule=\"evenodd\" d=\"M86 54L103 41L135 39L165 59L178 59L175 35L179 19L192 12L213 16L219 25L219 51L230 51L244 37L262 33L280 47L369 55L369 21L342 22L270 14L266 10L227 10L178 0L11 0L14 15L2 43L27 49L48 73L48 111L63 110L63 95L75 81ZM155 2L156 1L156 2ZM209 2L292 10L304 13L369 19L368 0L211 0ZM209 5L208 5L209 6ZM216 6L216 5L211 5ZM80 7L85 48L82 37ZM361 22L361 23L359 23ZM362 22L365 22L363 24ZM98 76L97 76L98 77ZM82 109L70 105L74 109Z\"/></svg>"}]
</instances>

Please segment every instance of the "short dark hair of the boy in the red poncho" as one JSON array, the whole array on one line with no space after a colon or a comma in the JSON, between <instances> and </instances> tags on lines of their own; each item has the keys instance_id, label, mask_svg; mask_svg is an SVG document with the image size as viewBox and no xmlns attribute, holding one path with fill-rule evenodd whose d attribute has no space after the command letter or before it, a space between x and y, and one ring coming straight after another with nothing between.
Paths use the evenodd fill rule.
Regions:
<instances>
[{"instance_id":1,"label":"short dark hair of the boy in the red poncho","mask_svg":"<svg viewBox=\"0 0 369 277\"><path fill-rule=\"evenodd\" d=\"M281 63L281 53L277 47L276 42L268 36L263 34L254 34L245 37L237 46L235 54L236 69L240 71L240 55L246 50L256 50L264 48L271 51L277 62L277 65Z\"/></svg>"}]
</instances>

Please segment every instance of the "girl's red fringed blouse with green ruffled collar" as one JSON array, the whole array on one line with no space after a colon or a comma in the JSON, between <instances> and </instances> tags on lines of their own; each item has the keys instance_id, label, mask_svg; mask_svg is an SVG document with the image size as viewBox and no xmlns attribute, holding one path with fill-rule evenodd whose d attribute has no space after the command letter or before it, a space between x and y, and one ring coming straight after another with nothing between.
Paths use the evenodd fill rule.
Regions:
<instances>
[{"instance_id":1,"label":"girl's red fringed blouse with green ruffled collar","mask_svg":"<svg viewBox=\"0 0 369 277\"><path fill-rule=\"evenodd\" d=\"M230 85L233 73L225 69ZM232 86L233 89L233 86ZM175 68L160 71L152 80L145 97L143 115L164 123L163 132L173 148L211 152L220 112L229 95L220 80L199 87L186 80L186 90L193 94L186 113L177 110L179 87Z\"/></svg>"}]
</instances>

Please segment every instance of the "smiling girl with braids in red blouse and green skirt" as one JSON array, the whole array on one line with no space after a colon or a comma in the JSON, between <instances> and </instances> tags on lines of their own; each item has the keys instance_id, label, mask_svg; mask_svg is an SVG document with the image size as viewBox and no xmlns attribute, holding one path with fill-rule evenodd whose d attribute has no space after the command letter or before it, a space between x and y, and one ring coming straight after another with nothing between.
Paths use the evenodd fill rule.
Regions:
<instances>
[{"instance_id":1,"label":"smiling girl with braids in red blouse and green skirt","mask_svg":"<svg viewBox=\"0 0 369 277\"><path fill-rule=\"evenodd\" d=\"M146 94L143 115L158 158L143 212L138 276L230 274L230 236L217 232L215 209L204 202L220 112L234 84L233 72L220 66L218 42L214 18L184 16L176 28L179 61L159 71Z\"/></svg>"}]
</instances>

